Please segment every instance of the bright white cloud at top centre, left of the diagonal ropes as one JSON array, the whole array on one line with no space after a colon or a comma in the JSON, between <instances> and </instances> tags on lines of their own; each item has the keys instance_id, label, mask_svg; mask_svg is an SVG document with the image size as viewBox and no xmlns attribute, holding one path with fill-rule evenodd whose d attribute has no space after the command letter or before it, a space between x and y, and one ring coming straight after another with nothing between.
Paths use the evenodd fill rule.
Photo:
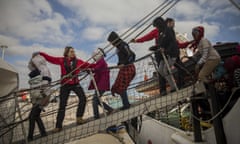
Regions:
<instances>
[{"instance_id":1,"label":"bright white cloud at top centre, left of the diagonal ropes","mask_svg":"<svg viewBox=\"0 0 240 144\"><path fill-rule=\"evenodd\" d=\"M81 20L100 25L122 25L135 22L150 12L160 2L144 0L59 0L59 2L76 12Z\"/></svg>"}]
</instances>

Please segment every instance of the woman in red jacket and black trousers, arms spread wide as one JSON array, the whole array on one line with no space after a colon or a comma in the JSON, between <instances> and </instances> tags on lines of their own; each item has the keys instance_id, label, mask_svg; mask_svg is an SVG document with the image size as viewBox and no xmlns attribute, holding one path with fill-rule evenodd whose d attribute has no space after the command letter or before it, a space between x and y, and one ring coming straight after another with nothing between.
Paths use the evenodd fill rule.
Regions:
<instances>
[{"instance_id":1,"label":"woman in red jacket and black trousers, arms spread wide","mask_svg":"<svg viewBox=\"0 0 240 144\"><path fill-rule=\"evenodd\" d=\"M74 48L73 47L66 47L63 53L64 57L53 57L49 56L46 53L40 52L40 55L43 56L48 62L52 64L59 65L61 68L61 77L63 78L76 68L73 73L69 77L63 78L61 81L61 88L60 88L60 104L57 114L57 123L56 128L53 130L54 132L59 132L62 130L62 123L65 116L65 109L67 105L67 100L71 91L74 91L78 98L78 108L77 108L77 124L84 123L82 116L84 114L85 106L86 106L86 96L79 84L78 73L80 69L88 68L91 65L87 62L84 62L80 59L76 58Z\"/></svg>"}]
</instances>

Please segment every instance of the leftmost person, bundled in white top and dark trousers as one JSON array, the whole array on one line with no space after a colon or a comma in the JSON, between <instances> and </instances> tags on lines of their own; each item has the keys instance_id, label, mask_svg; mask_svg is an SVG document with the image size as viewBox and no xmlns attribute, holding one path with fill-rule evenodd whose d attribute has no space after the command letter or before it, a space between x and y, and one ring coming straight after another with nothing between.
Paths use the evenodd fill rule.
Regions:
<instances>
[{"instance_id":1,"label":"leftmost person, bundled in white top and dark trousers","mask_svg":"<svg viewBox=\"0 0 240 144\"><path fill-rule=\"evenodd\" d=\"M32 58L30 59L28 64L28 68L31 71L29 73L30 87L43 88L43 90L32 89L30 91L32 109L29 114L28 141L32 141L35 129L35 122L38 125L41 136L43 137L47 135L40 114L43 107L47 105L47 100L49 100L50 89L48 89L46 86L51 82L51 73L47 67L46 60L39 54L32 55Z\"/></svg>"}]
</instances>

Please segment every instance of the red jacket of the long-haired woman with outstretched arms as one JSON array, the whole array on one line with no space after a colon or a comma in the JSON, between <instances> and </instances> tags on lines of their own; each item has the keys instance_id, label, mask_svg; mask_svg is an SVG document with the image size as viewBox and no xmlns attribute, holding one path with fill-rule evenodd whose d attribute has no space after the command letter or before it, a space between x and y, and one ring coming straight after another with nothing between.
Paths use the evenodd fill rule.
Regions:
<instances>
[{"instance_id":1,"label":"red jacket of the long-haired woman with outstretched arms","mask_svg":"<svg viewBox=\"0 0 240 144\"><path fill-rule=\"evenodd\" d=\"M64 66L64 57L53 57L53 56L50 56L46 53L43 53L43 52L40 52L40 55L43 56L48 62L52 63L52 64L56 64L56 65L60 65L60 68L61 68L61 76L64 76L67 74L67 71L65 69L65 66ZM67 63L70 64L70 62L72 61L73 59L67 59ZM91 68L93 67L94 65L92 64L89 64L87 62L84 62L80 59L77 59L77 63L76 63L76 67L80 69L83 69L83 68ZM80 69L77 69L76 71L74 71L73 75L77 75L79 74L80 72ZM79 83L79 79L78 77L76 76L75 78L65 78L61 81L61 83L63 84L78 84Z\"/></svg>"}]
</instances>

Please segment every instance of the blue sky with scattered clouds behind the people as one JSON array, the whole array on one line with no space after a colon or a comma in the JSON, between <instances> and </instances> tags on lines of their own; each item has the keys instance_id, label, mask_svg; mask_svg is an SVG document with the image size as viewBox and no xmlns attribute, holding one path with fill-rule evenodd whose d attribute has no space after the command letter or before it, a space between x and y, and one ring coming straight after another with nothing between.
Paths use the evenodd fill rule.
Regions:
<instances>
[{"instance_id":1,"label":"blue sky with scattered clouds behind the people","mask_svg":"<svg viewBox=\"0 0 240 144\"><path fill-rule=\"evenodd\" d=\"M123 33L163 1L0 0L0 45L8 46L5 61L19 72L20 87L28 87L27 64L33 52L62 56L65 46L73 46L77 57L87 60L96 48L108 44L106 39L111 31ZM174 18L175 31L187 33L189 39L192 28L202 25L205 37L213 44L240 42L240 11L229 0L180 0L163 16L167 17ZM141 57L149 53L151 45L153 42L130 47ZM116 56L108 63L116 64ZM59 79L59 67L49 67L53 79Z\"/></svg>"}]
</instances>

